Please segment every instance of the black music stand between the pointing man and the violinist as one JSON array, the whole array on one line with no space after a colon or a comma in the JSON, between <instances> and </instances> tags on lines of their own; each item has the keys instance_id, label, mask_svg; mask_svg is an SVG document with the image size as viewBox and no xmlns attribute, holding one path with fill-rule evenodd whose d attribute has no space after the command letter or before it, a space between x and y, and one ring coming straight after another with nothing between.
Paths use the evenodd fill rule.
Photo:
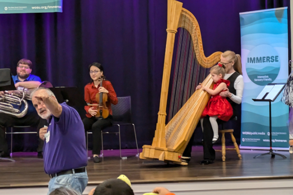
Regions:
<instances>
[{"instance_id":1,"label":"black music stand between the pointing man and the violinist","mask_svg":"<svg viewBox=\"0 0 293 195\"><path fill-rule=\"evenodd\" d=\"M59 103L66 102L68 106L75 109L76 107L87 105L77 87L54 87L49 89L54 93Z\"/></svg>"}]
</instances>

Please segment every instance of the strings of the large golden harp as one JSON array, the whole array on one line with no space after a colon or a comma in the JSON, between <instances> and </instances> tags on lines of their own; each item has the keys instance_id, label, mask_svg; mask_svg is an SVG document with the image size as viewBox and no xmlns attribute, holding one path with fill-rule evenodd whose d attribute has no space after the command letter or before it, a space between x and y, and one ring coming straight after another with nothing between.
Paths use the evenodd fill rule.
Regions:
<instances>
[{"instance_id":1,"label":"strings of the large golden harp","mask_svg":"<svg viewBox=\"0 0 293 195\"><path fill-rule=\"evenodd\" d=\"M209 68L203 68L196 58L196 53L199 52L198 40L193 40L192 37L196 38L198 31L186 15L182 14L180 21L182 22L182 28L178 29L179 38L174 63L166 141L168 141L178 122L185 121L180 119L186 116L186 112L189 111L189 104L185 105L186 102L195 92L196 86L209 75ZM191 35L193 36L191 37ZM185 107L183 108L184 105ZM176 118L174 118L175 115ZM182 134L183 126L185 125L179 124L175 137ZM170 140L172 143L175 141L173 140L175 137Z\"/></svg>"}]
</instances>

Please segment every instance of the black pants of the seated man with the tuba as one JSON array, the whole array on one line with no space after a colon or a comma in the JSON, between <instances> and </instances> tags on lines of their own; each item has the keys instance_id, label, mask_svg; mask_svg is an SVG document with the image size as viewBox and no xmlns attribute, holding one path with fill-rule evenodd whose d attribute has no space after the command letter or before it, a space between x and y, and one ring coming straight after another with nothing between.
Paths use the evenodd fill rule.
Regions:
<instances>
[{"instance_id":1,"label":"black pants of the seated man with the tuba","mask_svg":"<svg viewBox=\"0 0 293 195\"><path fill-rule=\"evenodd\" d=\"M8 153L8 145L5 139L5 127L12 126L32 126L37 127L40 118L37 111L27 113L24 117L16 118L4 113L0 113L0 151ZM38 136L39 137L39 136ZM39 137L38 152L42 152L43 141Z\"/></svg>"}]
</instances>

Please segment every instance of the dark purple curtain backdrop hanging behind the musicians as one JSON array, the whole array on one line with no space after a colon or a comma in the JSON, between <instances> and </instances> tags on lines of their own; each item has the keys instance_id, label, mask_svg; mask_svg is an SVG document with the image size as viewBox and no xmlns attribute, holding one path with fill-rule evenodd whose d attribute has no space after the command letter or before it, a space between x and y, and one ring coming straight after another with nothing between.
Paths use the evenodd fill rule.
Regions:
<instances>
[{"instance_id":1,"label":"dark purple curtain backdrop hanging behind the musicians","mask_svg":"<svg viewBox=\"0 0 293 195\"><path fill-rule=\"evenodd\" d=\"M206 56L225 50L241 54L239 12L290 7L289 0L180 1L198 20ZM0 14L0 68L16 74L18 60L27 58L42 80L77 86L84 94L88 65L102 63L117 95L131 96L141 147L151 144L156 127L166 28L167 0L64 0L63 13ZM234 129L239 139L240 115ZM131 129L122 132L127 132L123 148L135 148ZM106 148L118 147L118 139L105 139ZM199 129L195 139L201 140ZM34 137L14 140L20 151L37 148Z\"/></svg>"}]
</instances>

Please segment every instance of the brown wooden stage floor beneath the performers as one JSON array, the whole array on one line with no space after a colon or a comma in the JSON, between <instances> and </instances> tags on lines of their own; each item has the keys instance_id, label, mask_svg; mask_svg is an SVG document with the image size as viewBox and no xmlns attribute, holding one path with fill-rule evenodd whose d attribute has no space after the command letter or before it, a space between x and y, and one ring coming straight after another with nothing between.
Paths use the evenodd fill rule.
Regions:
<instances>
[{"instance_id":1,"label":"brown wooden stage floor beneath the performers","mask_svg":"<svg viewBox=\"0 0 293 195\"><path fill-rule=\"evenodd\" d=\"M126 160L120 159L119 151L105 151L103 162L89 161L88 184L97 185L121 174L132 183L293 178L293 155L278 151L287 159L280 156L271 158L269 155L253 159L253 156L266 152L241 150L242 160L239 160L235 151L227 151L226 162L222 162L221 153L217 152L213 164L200 165L203 150L201 146L195 146L189 165L179 166L131 156L135 155L136 150L123 150L123 155L129 156ZM13 157L16 162L0 160L0 188L47 186L50 178L43 171L43 160L36 156L36 153L17 153Z\"/></svg>"}]
</instances>

